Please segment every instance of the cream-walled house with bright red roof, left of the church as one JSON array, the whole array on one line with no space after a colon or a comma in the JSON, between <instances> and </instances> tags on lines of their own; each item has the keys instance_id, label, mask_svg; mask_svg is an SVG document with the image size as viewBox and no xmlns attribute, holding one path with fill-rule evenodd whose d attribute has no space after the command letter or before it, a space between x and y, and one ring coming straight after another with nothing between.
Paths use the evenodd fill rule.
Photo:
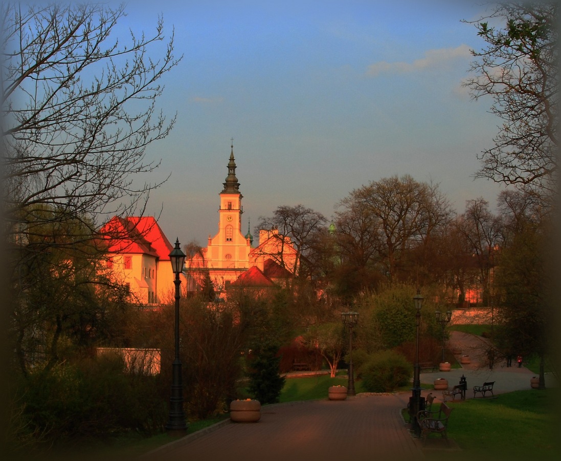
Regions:
<instances>
[{"instance_id":1,"label":"cream-walled house with bright red roof, left of the church","mask_svg":"<svg viewBox=\"0 0 561 461\"><path fill-rule=\"evenodd\" d=\"M154 305L173 301L175 275L169 261L173 246L153 216L114 216L102 233L108 245L107 269L129 288L132 302Z\"/></svg>"}]
</instances>

